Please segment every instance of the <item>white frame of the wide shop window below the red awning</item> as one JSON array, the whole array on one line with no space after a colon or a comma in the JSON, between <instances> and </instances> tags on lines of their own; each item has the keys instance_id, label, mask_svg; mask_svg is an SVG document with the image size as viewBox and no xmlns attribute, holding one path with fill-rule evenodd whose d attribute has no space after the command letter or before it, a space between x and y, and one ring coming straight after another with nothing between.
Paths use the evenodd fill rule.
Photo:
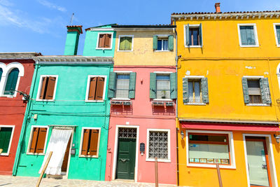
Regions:
<instances>
[{"instance_id":1,"label":"white frame of the wide shop window below the red awning","mask_svg":"<svg viewBox=\"0 0 280 187\"><path fill-rule=\"evenodd\" d=\"M202 134L228 134L228 144L230 146L230 163L231 165L219 165L220 168L227 168L227 169L236 169L235 165L235 145L233 141L233 134L230 131L212 131L212 130L186 130L186 157L187 157L187 166L190 167L212 167L216 168L216 165L209 165L209 164L200 164L200 163L190 163L188 159L188 134L189 133L202 133Z\"/></svg>"}]
</instances>

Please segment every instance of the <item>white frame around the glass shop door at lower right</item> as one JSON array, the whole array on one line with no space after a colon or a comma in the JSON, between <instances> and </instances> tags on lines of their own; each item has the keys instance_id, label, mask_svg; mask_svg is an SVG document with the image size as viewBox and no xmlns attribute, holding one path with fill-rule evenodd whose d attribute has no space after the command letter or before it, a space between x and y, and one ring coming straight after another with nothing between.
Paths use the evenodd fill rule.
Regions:
<instances>
[{"instance_id":1,"label":"white frame around the glass shop door at lower right","mask_svg":"<svg viewBox=\"0 0 280 187\"><path fill-rule=\"evenodd\" d=\"M248 170L246 137L265 137L265 144L266 144L266 148L267 148L267 155L268 155L268 161L269 161L268 164L270 166L269 167L270 171L267 171L267 172L270 172L270 179L272 181L270 186L278 187L271 135L270 134L243 134L244 155L245 155L245 165L246 165L246 175L247 175L248 187L251 187L251 186L250 186L250 178L249 178L249 170Z\"/></svg>"}]
</instances>

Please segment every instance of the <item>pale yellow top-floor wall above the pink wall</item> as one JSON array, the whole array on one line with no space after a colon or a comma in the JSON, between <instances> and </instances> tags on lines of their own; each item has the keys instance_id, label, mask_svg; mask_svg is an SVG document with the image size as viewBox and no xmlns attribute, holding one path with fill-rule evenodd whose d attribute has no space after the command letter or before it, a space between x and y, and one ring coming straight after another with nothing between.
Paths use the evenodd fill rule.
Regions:
<instances>
[{"instance_id":1,"label":"pale yellow top-floor wall above the pink wall","mask_svg":"<svg viewBox=\"0 0 280 187\"><path fill-rule=\"evenodd\" d=\"M153 51L153 35L174 35L174 50ZM118 51L119 36L134 35L133 51ZM117 31L114 65L175 66L175 34L169 31Z\"/></svg>"}]
</instances>

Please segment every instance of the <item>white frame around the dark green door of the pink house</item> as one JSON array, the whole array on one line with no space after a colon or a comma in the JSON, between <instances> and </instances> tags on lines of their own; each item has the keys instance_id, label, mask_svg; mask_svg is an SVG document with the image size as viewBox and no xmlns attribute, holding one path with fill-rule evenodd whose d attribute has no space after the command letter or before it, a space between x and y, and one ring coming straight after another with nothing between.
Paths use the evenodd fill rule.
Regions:
<instances>
[{"instance_id":1,"label":"white frame around the dark green door of the pink house","mask_svg":"<svg viewBox=\"0 0 280 187\"><path fill-rule=\"evenodd\" d=\"M136 128L137 129L137 138L136 138L136 153L135 153L135 169L134 169L134 181L137 182L138 176L138 155L139 155L139 125L116 125L115 132L115 145L113 153L113 171L112 171L112 180L116 179L116 169L117 169L117 157L118 157L118 129L119 128Z\"/></svg>"}]
</instances>

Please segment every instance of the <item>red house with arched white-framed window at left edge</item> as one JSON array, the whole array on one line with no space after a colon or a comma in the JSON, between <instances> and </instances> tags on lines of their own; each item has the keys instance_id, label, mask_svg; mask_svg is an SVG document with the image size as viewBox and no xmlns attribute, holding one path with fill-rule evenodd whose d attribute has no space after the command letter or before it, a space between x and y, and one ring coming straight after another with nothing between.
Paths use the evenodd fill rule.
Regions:
<instances>
[{"instance_id":1,"label":"red house with arched white-framed window at left edge","mask_svg":"<svg viewBox=\"0 0 280 187\"><path fill-rule=\"evenodd\" d=\"M11 175L34 71L40 53L0 53L0 174ZM23 95L23 97L22 97Z\"/></svg>"}]
</instances>

